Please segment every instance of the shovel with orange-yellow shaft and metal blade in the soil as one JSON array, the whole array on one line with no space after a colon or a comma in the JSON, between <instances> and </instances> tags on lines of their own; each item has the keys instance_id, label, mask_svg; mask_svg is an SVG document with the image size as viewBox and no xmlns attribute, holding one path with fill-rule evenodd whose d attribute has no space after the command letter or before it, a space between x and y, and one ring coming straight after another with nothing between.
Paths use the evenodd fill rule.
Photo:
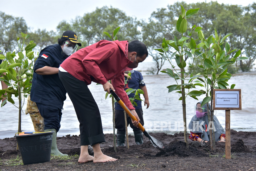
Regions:
<instances>
[{"instance_id":1,"label":"shovel with orange-yellow shaft and metal blade in the soil","mask_svg":"<svg viewBox=\"0 0 256 171\"><path fill-rule=\"evenodd\" d=\"M116 99L116 101L119 103L119 105L122 106L122 108L126 111L126 113L128 114L128 116L135 121L138 121L137 118L131 113L131 111L126 107L126 105L124 104L124 102L122 102L122 100L118 97L118 95L112 90L110 89L110 93L112 94L112 96ZM161 141L155 139L154 137L152 137L151 135L149 135L147 133L147 131L145 130L145 128L141 125L141 123L138 123L138 128L143 132L143 134L149 138L150 142L153 144L154 147L159 147L159 148L164 148L164 145Z\"/></svg>"}]
</instances>

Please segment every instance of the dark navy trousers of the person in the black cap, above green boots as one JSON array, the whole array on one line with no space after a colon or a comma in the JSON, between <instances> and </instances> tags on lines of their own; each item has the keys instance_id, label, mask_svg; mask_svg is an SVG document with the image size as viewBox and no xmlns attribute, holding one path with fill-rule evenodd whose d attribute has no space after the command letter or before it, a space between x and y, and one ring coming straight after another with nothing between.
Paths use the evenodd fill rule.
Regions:
<instances>
[{"instance_id":1,"label":"dark navy trousers of the person in the black cap, above green boots","mask_svg":"<svg viewBox=\"0 0 256 171\"><path fill-rule=\"evenodd\" d=\"M43 103L36 103L36 106L44 119L44 129L56 129L58 132L60 130L62 116L61 109Z\"/></svg>"}]
</instances>

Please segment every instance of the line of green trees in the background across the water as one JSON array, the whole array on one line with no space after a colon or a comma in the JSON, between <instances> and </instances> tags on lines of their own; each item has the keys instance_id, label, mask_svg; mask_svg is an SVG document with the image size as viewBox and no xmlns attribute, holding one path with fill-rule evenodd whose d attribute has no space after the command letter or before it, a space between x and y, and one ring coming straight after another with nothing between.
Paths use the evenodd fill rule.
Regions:
<instances>
[{"instance_id":1,"label":"line of green trees in the background across the water","mask_svg":"<svg viewBox=\"0 0 256 171\"><path fill-rule=\"evenodd\" d=\"M78 16L71 22L61 21L56 28L56 32L45 29L31 31L23 18L13 17L0 12L0 50L2 50L0 53L5 54L9 51L18 50L16 40L20 32L28 32L31 39L37 44L35 49L40 51L48 45L56 44L57 39L66 30L76 32L79 41L82 43L81 48L83 48L102 39L110 40L103 32L112 32L115 28L121 26L118 40L131 41L137 39L145 43L148 47L149 55L152 56L155 62L155 67L151 69L152 73L158 74L165 60L153 49L162 47L163 37L166 40L173 40L175 39L174 35L179 35L176 33L177 30L175 28L177 18L179 18L180 4L185 9L203 9L196 14L197 17L189 20L188 28L192 28L192 23L202 27L206 37L214 33L214 28L221 32L221 35L233 33L227 38L227 42L232 49L241 50L240 56L248 58L247 60L236 61L235 68L233 68L234 72L237 70L250 71L252 69L256 58L255 2L244 7L219 4L213 1L191 4L176 2L173 5L168 5L166 8L157 9L148 20L137 20L127 16L122 10L112 6L104 6L96 8L91 13ZM196 39L196 37L198 35L193 33L192 38ZM171 53L171 51L169 52ZM230 58L233 55L231 54ZM200 65L199 60L195 61L195 63Z\"/></svg>"}]
</instances>

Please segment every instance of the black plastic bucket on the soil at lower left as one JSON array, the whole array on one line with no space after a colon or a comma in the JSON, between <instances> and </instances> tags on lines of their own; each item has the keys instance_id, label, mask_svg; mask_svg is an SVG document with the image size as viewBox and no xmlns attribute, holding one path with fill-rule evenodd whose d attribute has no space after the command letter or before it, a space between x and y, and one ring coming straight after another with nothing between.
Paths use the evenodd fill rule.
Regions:
<instances>
[{"instance_id":1,"label":"black plastic bucket on the soil at lower left","mask_svg":"<svg viewBox=\"0 0 256 171\"><path fill-rule=\"evenodd\" d=\"M50 161L52 134L53 132L47 132L14 136L24 165Z\"/></svg>"}]
</instances>

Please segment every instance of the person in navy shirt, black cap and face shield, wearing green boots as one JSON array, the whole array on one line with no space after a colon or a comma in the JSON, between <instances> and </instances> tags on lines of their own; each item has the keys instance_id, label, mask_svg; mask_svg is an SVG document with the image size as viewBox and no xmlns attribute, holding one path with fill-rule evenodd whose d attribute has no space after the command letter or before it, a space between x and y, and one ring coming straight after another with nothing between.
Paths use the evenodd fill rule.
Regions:
<instances>
[{"instance_id":1,"label":"person in navy shirt, black cap and face shield, wearing green boots","mask_svg":"<svg viewBox=\"0 0 256 171\"><path fill-rule=\"evenodd\" d=\"M58 44L41 50L34 64L30 99L36 103L44 118L44 131L54 131L51 153L56 156L68 156L60 153L56 144L56 134L60 129L61 111L67 93L59 78L59 67L66 58L76 52L78 46L81 46L81 43L78 42L76 33L65 31L58 39Z\"/></svg>"}]
</instances>

